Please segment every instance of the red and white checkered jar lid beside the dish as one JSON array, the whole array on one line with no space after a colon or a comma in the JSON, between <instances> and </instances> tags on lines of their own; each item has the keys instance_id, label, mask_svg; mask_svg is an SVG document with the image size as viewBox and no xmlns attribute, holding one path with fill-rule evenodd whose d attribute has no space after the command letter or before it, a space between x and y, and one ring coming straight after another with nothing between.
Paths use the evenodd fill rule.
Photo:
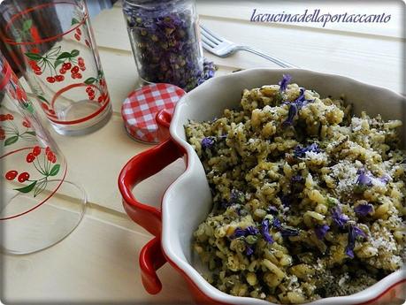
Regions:
<instances>
[{"instance_id":1,"label":"red and white checkered jar lid beside the dish","mask_svg":"<svg viewBox=\"0 0 406 305\"><path fill-rule=\"evenodd\" d=\"M135 140L157 143L158 111L171 112L186 92L170 84L152 84L133 91L121 107L126 131Z\"/></svg>"}]
</instances>

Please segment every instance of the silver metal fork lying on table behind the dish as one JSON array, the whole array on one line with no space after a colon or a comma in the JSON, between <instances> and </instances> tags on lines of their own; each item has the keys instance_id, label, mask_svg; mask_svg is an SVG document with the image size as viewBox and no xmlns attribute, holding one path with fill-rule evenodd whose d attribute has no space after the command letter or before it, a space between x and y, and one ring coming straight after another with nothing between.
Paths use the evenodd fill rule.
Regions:
<instances>
[{"instance_id":1,"label":"silver metal fork lying on table behind the dish","mask_svg":"<svg viewBox=\"0 0 406 305\"><path fill-rule=\"evenodd\" d=\"M203 27L202 25L200 25L200 29L200 33L202 34L203 48L212 54L217 55L218 57L228 57L234 54L234 52L237 50L245 50L250 53L257 54L260 57L264 57L265 59L272 61L272 63L280 65L282 68L296 67L295 65L289 64L282 59L271 57L249 46L238 45L234 42L227 41L225 38L218 36L218 34L211 32L210 29Z\"/></svg>"}]
</instances>

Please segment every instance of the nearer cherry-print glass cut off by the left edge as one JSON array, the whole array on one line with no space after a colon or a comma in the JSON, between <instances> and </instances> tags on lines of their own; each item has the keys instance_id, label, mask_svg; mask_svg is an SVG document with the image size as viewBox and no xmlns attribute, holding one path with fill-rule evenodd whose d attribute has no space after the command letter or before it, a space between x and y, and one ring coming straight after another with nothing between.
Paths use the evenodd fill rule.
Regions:
<instances>
[{"instance_id":1,"label":"nearer cherry-print glass cut off by the left edge","mask_svg":"<svg viewBox=\"0 0 406 305\"><path fill-rule=\"evenodd\" d=\"M68 180L65 156L0 54L2 248L27 254L62 240L80 223L86 194Z\"/></svg>"}]
</instances>

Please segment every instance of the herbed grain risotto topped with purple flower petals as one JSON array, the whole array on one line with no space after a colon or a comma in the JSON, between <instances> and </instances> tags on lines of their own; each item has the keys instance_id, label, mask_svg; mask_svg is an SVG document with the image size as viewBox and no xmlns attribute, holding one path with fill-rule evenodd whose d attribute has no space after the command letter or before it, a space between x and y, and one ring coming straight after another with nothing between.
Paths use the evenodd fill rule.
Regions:
<instances>
[{"instance_id":1,"label":"herbed grain risotto topped with purple flower petals","mask_svg":"<svg viewBox=\"0 0 406 305\"><path fill-rule=\"evenodd\" d=\"M213 195L194 233L203 276L226 294L287 304L372 286L402 267L406 241L402 122L354 117L344 97L290 79L185 126Z\"/></svg>"}]
</instances>

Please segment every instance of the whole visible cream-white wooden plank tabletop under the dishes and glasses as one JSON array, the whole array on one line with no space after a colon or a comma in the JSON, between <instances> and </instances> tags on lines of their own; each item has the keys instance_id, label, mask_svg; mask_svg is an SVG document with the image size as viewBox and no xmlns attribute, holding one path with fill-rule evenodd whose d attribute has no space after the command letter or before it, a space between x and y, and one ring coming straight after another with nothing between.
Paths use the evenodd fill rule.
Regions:
<instances>
[{"instance_id":1,"label":"whole visible cream-white wooden plank tabletop under the dishes and glasses","mask_svg":"<svg viewBox=\"0 0 406 305\"><path fill-rule=\"evenodd\" d=\"M334 72L404 93L402 80L402 4L367 5L341 2L198 1L200 20L231 41L249 44L294 65ZM392 14L388 24L259 24L249 22L252 11L303 13L323 11ZM56 246L34 255L3 255L5 302L94 301L146 304L191 302L180 275L165 265L158 274L160 294L147 294L141 283L138 255L151 236L135 225L122 208L117 178L126 161L149 149L125 132L120 107L135 88L138 76L119 4L92 21L111 93L113 116L96 133L64 137L53 133L70 164L70 179L88 193L88 210L79 227ZM274 66L261 57L239 52L218 58L217 75L237 68ZM135 189L142 202L159 205L163 190L182 172L177 161Z\"/></svg>"}]
</instances>

